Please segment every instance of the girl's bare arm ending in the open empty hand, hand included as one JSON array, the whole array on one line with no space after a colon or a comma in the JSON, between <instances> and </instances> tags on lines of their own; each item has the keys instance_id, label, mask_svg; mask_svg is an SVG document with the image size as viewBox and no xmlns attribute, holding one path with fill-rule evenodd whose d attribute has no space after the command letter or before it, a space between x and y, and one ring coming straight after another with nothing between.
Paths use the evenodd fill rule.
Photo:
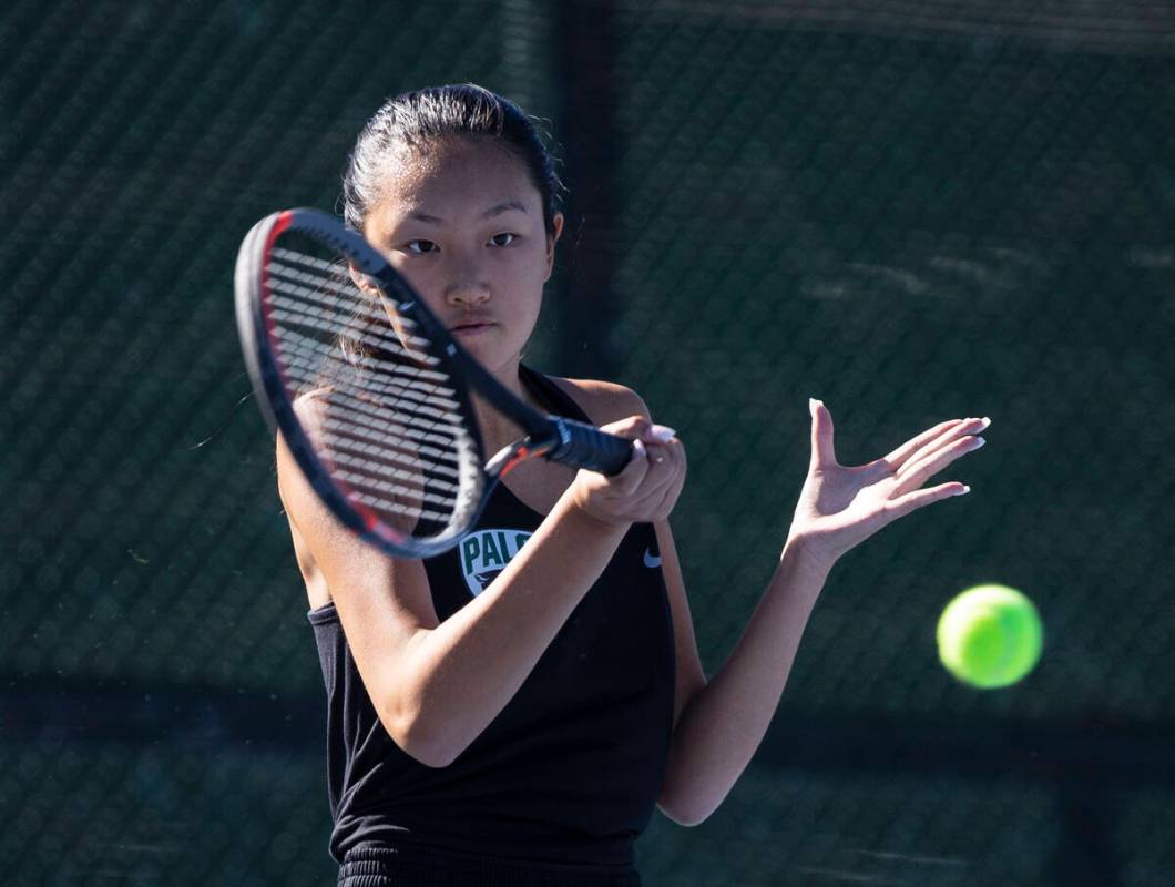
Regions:
<instances>
[{"instance_id":1,"label":"girl's bare arm ending in the open empty hand, hand included","mask_svg":"<svg viewBox=\"0 0 1175 887\"><path fill-rule=\"evenodd\" d=\"M832 415L819 401L811 412L812 461L787 543L741 638L710 681L698 660L669 523L657 525L678 668L673 739L658 804L683 825L696 825L718 807L759 747L837 560L887 524L966 493L969 488L958 482L922 485L982 446L978 435L989 424L942 422L882 458L846 466L837 461Z\"/></svg>"}]
</instances>

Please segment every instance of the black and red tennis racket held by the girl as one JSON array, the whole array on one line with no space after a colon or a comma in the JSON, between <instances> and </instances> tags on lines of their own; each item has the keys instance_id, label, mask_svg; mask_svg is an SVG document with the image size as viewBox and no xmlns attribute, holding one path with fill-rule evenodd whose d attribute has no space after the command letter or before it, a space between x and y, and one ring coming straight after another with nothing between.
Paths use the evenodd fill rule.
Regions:
<instances>
[{"instance_id":1,"label":"black and red tennis racket held by the girl","mask_svg":"<svg viewBox=\"0 0 1175 887\"><path fill-rule=\"evenodd\" d=\"M516 397L334 216L289 209L257 222L235 284L270 431L335 517L389 555L456 545L498 478L525 459L615 475L631 457L630 441ZM489 459L472 392L523 431Z\"/></svg>"}]
</instances>

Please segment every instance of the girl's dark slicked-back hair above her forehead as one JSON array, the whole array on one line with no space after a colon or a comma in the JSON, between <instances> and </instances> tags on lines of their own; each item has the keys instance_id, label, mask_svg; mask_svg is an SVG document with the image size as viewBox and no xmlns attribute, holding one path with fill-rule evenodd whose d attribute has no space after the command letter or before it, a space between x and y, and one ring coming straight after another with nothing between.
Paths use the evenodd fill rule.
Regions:
<instances>
[{"instance_id":1,"label":"girl's dark slicked-back hair above her forehead","mask_svg":"<svg viewBox=\"0 0 1175 887\"><path fill-rule=\"evenodd\" d=\"M343 220L363 231L380 182L397 149L427 149L454 136L490 136L522 160L543 197L543 221L555 230L563 183L535 123L509 99L474 83L437 86L389 99L363 127L343 175Z\"/></svg>"}]
</instances>

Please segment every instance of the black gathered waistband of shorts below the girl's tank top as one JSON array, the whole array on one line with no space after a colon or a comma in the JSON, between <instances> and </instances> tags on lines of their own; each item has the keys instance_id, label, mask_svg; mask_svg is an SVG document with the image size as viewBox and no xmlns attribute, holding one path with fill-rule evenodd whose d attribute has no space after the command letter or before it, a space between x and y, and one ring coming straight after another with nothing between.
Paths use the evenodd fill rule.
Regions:
<instances>
[{"instance_id":1,"label":"black gathered waistband of shorts below the girl's tank top","mask_svg":"<svg viewBox=\"0 0 1175 887\"><path fill-rule=\"evenodd\" d=\"M517 862L419 846L360 846L343 856L338 887L640 887L627 866Z\"/></svg>"}]
</instances>

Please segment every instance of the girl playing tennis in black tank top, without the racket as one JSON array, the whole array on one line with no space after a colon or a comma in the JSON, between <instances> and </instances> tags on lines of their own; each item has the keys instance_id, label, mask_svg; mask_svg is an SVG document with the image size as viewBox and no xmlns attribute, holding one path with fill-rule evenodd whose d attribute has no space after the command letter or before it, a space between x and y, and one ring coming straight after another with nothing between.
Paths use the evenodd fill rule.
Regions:
<instances>
[{"instance_id":1,"label":"girl playing tennis in black tank top, without the racket","mask_svg":"<svg viewBox=\"0 0 1175 887\"><path fill-rule=\"evenodd\" d=\"M922 484L982 445L944 422L846 468L812 402L812 461L779 566L723 668L703 673L667 517L685 451L640 398L522 363L563 229L559 183L512 103L474 86L398 96L360 135L345 219L461 343L545 411L637 442L619 475L524 463L446 555L394 560L343 529L278 446L329 698L340 883L637 885L653 806L694 824L779 701L837 559L967 492ZM479 415L486 451L517 430Z\"/></svg>"}]
</instances>

